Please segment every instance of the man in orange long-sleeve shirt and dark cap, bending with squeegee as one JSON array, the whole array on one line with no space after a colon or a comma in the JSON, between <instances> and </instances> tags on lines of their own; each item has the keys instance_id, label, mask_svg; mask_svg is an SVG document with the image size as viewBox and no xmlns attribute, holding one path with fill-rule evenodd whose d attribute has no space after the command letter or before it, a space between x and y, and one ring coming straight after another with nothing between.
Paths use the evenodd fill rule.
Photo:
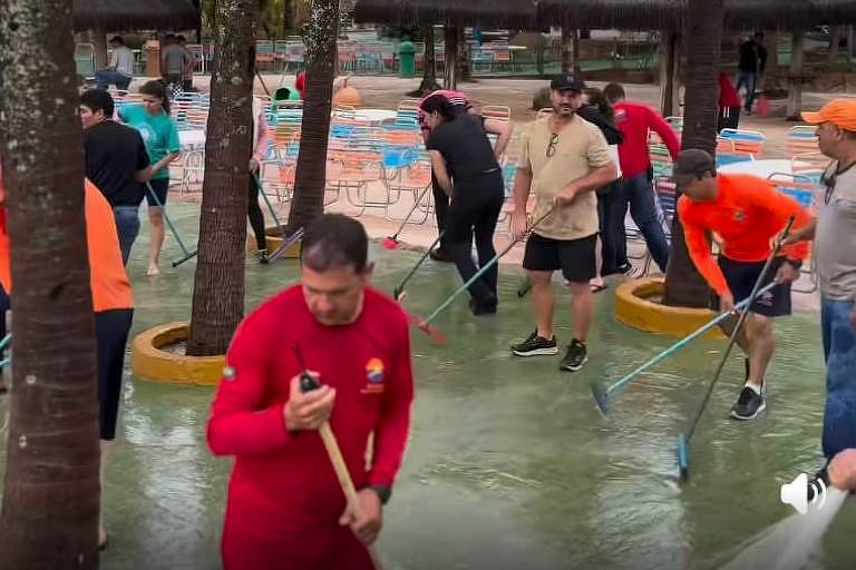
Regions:
<instances>
[{"instance_id":1,"label":"man in orange long-sleeve shirt and dark cap, bending with squeegee","mask_svg":"<svg viewBox=\"0 0 856 570\"><path fill-rule=\"evenodd\" d=\"M678 215L687 248L699 273L719 296L722 311L733 311L736 302L750 295L771 253L771 244L788 219L795 218L795 229L811 220L796 200L762 178L717 174L713 158L703 150L680 154L674 181L683 193L678 200ZM719 263L710 255L707 232L721 239ZM775 278L779 285L749 307L745 334L738 336L748 362L746 385L731 407L731 417L736 420L753 420L766 407L763 376L776 344L772 320L790 314L790 283L799 277L807 254L806 244L784 247L762 282L766 285Z\"/></svg>"}]
</instances>

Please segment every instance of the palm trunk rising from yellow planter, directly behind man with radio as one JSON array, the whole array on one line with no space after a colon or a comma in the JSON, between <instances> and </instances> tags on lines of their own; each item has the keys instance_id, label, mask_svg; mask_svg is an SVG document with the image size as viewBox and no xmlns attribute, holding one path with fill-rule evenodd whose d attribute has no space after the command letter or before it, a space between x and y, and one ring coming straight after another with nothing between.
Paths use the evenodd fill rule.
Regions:
<instances>
[{"instance_id":1,"label":"palm trunk rising from yellow planter, directly behind man with radio","mask_svg":"<svg viewBox=\"0 0 856 570\"><path fill-rule=\"evenodd\" d=\"M217 0L200 254L187 354L225 354L244 314L256 0Z\"/></svg>"}]
</instances>

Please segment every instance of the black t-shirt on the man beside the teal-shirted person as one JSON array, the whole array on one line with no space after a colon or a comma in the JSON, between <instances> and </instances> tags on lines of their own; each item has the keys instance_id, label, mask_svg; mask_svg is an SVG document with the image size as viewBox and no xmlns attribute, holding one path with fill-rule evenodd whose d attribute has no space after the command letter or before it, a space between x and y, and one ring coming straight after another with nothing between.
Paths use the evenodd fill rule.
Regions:
<instances>
[{"instance_id":1,"label":"black t-shirt on the man beside the teal-shirted person","mask_svg":"<svg viewBox=\"0 0 856 570\"><path fill-rule=\"evenodd\" d=\"M139 206L146 187L136 180L136 174L149 165L149 159L137 130L105 120L84 130L84 151L86 177L110 206Z\"/></svg>"}]
</instances>

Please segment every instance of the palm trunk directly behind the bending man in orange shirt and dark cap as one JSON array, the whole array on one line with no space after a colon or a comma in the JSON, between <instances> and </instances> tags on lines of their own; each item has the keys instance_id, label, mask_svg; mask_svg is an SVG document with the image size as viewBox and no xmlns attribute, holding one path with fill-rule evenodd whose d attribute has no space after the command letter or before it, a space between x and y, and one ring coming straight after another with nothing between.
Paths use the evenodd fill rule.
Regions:
<instances>
[{"instance_id":1,"label":"palm trunk directly behind the bending man in orange shirt and dark cap","mask_svg":"<svg viewBox=\"0 0 856 570\"><path fill-rule=\"evenodd\" d=\"M682 148L717 148L717 78L724 19L723 0L690 0L687 10L687 94ZM672 252L665 273L664 303L671 306L708 306L709 289L687 252L678 216L672 224Z\"/></svg>"}]
</instances>

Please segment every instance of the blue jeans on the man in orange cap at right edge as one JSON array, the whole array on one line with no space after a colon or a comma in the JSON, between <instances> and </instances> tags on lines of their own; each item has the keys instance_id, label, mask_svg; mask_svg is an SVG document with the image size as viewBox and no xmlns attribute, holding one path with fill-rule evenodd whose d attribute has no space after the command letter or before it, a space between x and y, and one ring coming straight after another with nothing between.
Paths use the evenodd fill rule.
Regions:
<instances>
[{"instance_id":1,"label":"blue jeans on the man in orange cap at right edge","mask_svg":"<svg viewBox=\"0 0 856 570\"><path fill-rule=\"evenodd\" d=\"M826 357L824 455L827 459L847 448L856 448L856 326L850 323L853 309L853 301L821 299Z\"/></svg>"}]
</instances>

